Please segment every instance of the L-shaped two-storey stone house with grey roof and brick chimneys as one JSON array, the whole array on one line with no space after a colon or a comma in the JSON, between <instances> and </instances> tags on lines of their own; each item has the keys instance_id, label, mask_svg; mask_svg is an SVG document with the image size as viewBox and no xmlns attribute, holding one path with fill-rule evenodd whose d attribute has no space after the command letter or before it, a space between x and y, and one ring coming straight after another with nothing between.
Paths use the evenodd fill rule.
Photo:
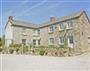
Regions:
<instances>
[{"instance_id":1,"label":"L-shaped two-storey stone house with grey roof and brick chimneys","mask_svg":"<svg viewBox=\"0 0 90 71\"><path fill-rule=\"evenodd\" d=\"M8 47L14 44L25 45L64 45L65 38L68 47L90 48L90 21L85 11L56 19L51 17L45 24L31 24L15 21L9 17L5 27L5 41ZM10 35L11 34L11 35ZM9 38L12 37L12 38Z\"/></svg>"}]
</instances>

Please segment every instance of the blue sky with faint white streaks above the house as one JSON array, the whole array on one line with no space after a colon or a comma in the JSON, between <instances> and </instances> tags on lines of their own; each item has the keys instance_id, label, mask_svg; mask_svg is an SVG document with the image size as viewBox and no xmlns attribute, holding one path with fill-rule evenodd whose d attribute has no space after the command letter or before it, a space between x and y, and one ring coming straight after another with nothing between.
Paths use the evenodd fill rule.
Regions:
<instances>
[{"instance_id":1,"label":"blue sky with faint white streaks above the house","mask_svg":"<svg viewBox=\"0 0 90 71\"><path fill-rule=\"evenodd\" d=\"M0 36L4 34L8 16L41 24L52 16L60 18L80 10L90 17L90 0L0 0Z\"/></svg>"}]
</instances>

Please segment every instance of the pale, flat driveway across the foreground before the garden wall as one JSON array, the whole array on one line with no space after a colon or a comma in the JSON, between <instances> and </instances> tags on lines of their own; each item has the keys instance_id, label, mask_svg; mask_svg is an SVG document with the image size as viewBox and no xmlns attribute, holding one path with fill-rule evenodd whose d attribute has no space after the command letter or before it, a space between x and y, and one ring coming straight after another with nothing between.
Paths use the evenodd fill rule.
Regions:
<instances>
[{"instance_id":1,"label":"pale, flat driveway across the foreground before the garden wall","mask_svg":"<svg viewBox=\"0 0 90 71\"><path fill-rule=\"evenodd\" d=\"M1 71L90 71L90 57L1 55Z\"/></svg>"}]
</instances>

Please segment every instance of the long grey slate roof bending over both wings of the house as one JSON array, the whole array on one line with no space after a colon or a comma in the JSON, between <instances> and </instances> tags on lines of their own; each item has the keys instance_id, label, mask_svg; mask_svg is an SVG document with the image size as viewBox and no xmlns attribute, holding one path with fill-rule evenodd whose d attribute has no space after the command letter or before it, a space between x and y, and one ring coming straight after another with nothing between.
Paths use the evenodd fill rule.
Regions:
<instances>
[{"instance_id":1,"label":"long grey slate roof bending over both wings of the house","mask_svg":"<svg viewBox=\"0 0 90 71\"><path fill-rule=\"evenodd\" d=\"M79 11L79 12L74 13L72 15L68 15L68 16L64 16L62 18L59 18L54 22L48 21L48 22L42 23L42 24L33 24L33 23L27 23L27 22L23 22L23 21L13 20L12 25L25 26L25 27L31 27L31 28L40 28L40 27L45 27L45 26L51 25L51 24L55 24L57 22L62 22L62 21L65 21L65 20L77 18L84 12L85 11L82 10L82 11Z\"/></svg>"}]
</instances>

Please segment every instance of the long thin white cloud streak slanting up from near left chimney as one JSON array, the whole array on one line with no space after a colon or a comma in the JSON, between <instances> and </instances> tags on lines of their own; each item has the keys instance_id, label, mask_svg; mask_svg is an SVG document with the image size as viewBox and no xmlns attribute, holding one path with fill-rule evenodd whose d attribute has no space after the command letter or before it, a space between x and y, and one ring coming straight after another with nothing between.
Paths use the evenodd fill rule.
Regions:
<instances>
[{"instance_id":1,"label":"long thin white cloud streak slanting up from near left chimney","mask_svg":"<svg viewBox=\"0 0 90 71\"><path fill-rule=\"evenodd\" d=\"M24 14L28 13L30 10L32 10L32 9L34 9L34 8L36 8L36 7L39 7L39 6L41 6L41 5L43 5L45 2L47 2L47 0L43 0L43 1L41 1L40 3L37 3L37 4L35 4L34 6L30 7L29 9L24 10L23 12L21 12L21 13L20 13L18 16L16 16L16 17L21 17L21 16L23 16Z\"/></svg>"}]
</instances>

